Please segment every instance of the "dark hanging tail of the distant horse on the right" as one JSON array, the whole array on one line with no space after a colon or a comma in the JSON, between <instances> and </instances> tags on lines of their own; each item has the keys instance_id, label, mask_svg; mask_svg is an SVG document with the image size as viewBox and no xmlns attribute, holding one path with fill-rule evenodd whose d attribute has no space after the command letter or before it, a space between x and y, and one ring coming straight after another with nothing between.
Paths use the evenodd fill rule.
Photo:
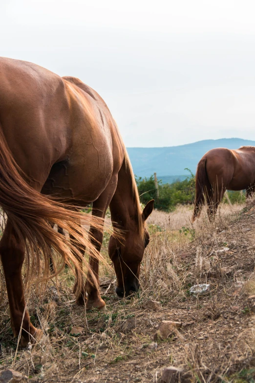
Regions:
<instances>
[{"instance_id":1,"label":"dark hanging tail of the distant horse on the right","mask_svg":"<svg viewBox=\"0 0 255 383\"><path fill-rule=\"evenodd\" d=\"M206 197L209 195L212 186L207 176L206 172L206 158L202 158L197 165L196 177L195 177L195 185L196 185L196 197L195 197L195 206L194 212L191 218L191 222L193 223L196 218L200 216L201 209L203 204L205 203Z\"/></svg>"}]
</instances>

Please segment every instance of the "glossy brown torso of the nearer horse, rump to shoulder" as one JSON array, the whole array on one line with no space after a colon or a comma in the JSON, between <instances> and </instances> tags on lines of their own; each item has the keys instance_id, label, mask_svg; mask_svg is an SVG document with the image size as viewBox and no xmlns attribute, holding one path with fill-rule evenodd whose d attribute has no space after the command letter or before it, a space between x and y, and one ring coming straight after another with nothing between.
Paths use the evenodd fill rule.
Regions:
<instances>
[{"instance_id":1,"label":"glossy brown torso of the nearer horse, rump to shoulder","mask_svg":"<svg viewBox=\"0 0 255 383\"><path fill-rule=\"evenodd\" d=\"M39 189L61 162L63 169L55 169L50 181L55 189L78 190L83 183L77 193L89 189L93 199L121 167L124 145L118 128L103 99L80 80L0 58L0 105L7 144Z\"/></svg>"}]
</instances>

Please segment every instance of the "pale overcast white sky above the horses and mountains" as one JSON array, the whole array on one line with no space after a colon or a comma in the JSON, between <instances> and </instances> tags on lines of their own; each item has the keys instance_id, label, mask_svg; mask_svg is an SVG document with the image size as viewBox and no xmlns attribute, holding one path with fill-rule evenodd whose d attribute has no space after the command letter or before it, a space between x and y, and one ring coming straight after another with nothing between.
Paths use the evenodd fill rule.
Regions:
<instances>
[{"instance_id":1,"label":"pale overcast white sky above the horses and mountains","mask_svg":"<svg viewBox=\"0 0 255 383\"><path fill-rule=\"evenodd\" d=\"M0 0L0 56L79 77L127 147L255 139L254 0Z\"/></svg>"}]
</instances>

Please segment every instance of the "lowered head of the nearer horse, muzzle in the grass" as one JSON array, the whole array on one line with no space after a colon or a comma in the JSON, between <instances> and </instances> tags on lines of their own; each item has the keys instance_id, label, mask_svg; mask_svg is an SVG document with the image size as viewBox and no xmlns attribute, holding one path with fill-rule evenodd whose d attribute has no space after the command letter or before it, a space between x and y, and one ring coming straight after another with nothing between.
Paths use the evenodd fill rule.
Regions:
<instances>
[{"instance_id":1,"label":"lowered head of the nearer horse, muzzle in the grass","mask_svg":"<svg viewBox=\"0 0 255 383\"><path fill-rule=\"evenodd\" d=\"M142 213L144 223L144 235L141 236L136 227L131 227L120 242L113 236L109 241L109 257L113 262L117 276L116 293L120 297L130 295L139 289L140 264L144 256L144 250L149 244L149 233L145 227L145 221L153 210L154 200L149 201Z\"/></svg>"}]
</instances>

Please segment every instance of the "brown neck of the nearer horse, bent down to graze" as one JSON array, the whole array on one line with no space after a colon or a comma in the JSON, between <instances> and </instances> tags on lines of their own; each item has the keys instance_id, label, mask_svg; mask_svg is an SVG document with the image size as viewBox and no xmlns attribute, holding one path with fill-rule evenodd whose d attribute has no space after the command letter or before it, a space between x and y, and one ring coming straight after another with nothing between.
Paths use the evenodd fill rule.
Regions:
<instances>
[{"instance_id":1,"label":"brown neck of the nearer horse, bent down to graze","mask_svg":"<svg viewBox=\"0 0 255 383\"><path fill-rule=\"evenodd\" d=\"M111 220L115 227L124 230L141 232L142 212L129 162L123 162L118 173L118 183L110 203Z\"/></svg>"}]
</instances>

